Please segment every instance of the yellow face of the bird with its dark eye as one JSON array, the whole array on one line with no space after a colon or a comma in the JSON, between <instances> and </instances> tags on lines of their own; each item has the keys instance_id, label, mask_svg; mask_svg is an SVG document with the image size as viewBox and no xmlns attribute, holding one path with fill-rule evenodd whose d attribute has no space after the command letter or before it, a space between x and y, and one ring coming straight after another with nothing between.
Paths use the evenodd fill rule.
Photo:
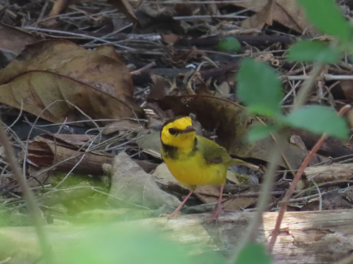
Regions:
<instances>
[{"instance_id":1,"label":"yellow face of the bird with its dark eye","mask_svg":"<svg viewBox=\"0 0 353 264\"><path fill-rule=\"evenodd\" d=\"M186 149L192 147L195 140L195 128L190 117L176 117L166 121L161 131L163 144Z\"/></svg>"}]
</instances>

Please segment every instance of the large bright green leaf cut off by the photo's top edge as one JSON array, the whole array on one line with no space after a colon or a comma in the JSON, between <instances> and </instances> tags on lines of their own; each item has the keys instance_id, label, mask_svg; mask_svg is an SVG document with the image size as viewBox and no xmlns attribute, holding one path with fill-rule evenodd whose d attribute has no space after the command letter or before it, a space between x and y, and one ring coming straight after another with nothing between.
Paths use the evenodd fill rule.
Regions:
<instances>
[{"instance_id":1,"label":"large bright green leaf cut off by the photo's top edge","mask_svg":"<svg viewBox=\"0 0 353 264\"><path fill-rule=\"evenodd\" d=\"M334 0L298 0L304 7L309 20L324 33L348 42L352 31Z\"/></svg>"}]
</instances>

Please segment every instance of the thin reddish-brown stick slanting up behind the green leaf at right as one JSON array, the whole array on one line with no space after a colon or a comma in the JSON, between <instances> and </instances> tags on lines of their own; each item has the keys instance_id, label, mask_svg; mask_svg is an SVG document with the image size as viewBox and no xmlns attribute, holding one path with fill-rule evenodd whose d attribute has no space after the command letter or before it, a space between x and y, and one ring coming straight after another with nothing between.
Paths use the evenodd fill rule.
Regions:
<instances>
[{"instance_id":1,"label":"thin reddish-brown stick slanting up behind the green leaf at right","mask_svg":"<svg viewBox=\"0 0 353 264\"><path fill-rule=\"evenodd\" d=\"M345 105L341 108L339 114L343 115L351 108L352 107L350 105ZM317 141L315 146L313 146L312 150L306 155L303 163L301 163L297 173L295 174L293 181L285 194L285 197L283 198L281 209L280 209L278 216L277 216L275 228L271 233L272 237L271 237L271 240L270 240L270 243L268 246L270 252L273 250L273 247L276 243L277 236L280 233L281 222L283 219L283 215L286 212L288 201L289 201L289 199L291 199L292 193L295 190L295 188L297 187L297 184L298 184L299 180L301 179L301 176L303 175L305 168L309 165L309 162L311 161L312 157L321 148L321 146L324 144L326 139L327 139L327 135L324 133L321 136L321 138Z\"/></svg>"}]
</instances>

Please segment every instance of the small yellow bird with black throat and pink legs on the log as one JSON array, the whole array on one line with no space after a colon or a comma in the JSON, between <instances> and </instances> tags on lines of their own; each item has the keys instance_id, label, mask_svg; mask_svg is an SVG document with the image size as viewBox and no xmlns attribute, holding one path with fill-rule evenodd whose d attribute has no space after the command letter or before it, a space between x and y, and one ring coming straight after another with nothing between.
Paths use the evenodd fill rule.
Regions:
<instances>
[{"instance_id":1,"label":"small yellow bird with black throat and pink legs on the log","mask_svg":"<svg viewBox=\"0 0 353 264\"><path fill-rule=\"evenodd\" d=\"M172 214L180 213L181 207L195 191L197 185L220 185L218 205L210 220L217 220L222 210L222 193L229 165L245 165L258 168L239 159L233 159L227 150L210 139L197 136L189 117L179 116L167 120L161 130L161 155L169 171L181 184L191 188L190 193Z\"/></svg>"}]
</instances>

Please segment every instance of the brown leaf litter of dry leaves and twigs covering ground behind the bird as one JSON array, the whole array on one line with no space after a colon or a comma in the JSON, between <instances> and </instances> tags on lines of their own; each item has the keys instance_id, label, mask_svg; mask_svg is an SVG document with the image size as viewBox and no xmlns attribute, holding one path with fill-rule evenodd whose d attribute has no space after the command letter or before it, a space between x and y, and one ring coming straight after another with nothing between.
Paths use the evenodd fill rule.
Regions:
<instances>
[{"instance_id":1,"label":"brown leaf litter of dry leaves and twigs covering ground behind the bird","mask_svg":"<svg viewBox=\"0 0 353 264\"><path fill-rule=\"evenodd\" d=\"M166 205L170 208L177 206L187 190L170 175L166 176L166 168L157 167L154 176L145 172L154 170L161 163L158 130L163 121L173 115L194 115L204 136L215 139L232 155L265 164L273 139L249 144L245 136L249 127L266 120L247 114L243 107L234 103L237 102L233 95L236 86L234 72L238 69L239 58L251 55L279 72L286 93L285 107L292 105L297 87L311 69L310 64L295 64L284 57L288 44L297 38L310 39L317 35L295 1L277 0L271 5L266 0L232 4L216 1L192 5L156 1L146 1L141 6L139 1L109 1L109 4L55 1L55 5L40 6L28 2L16 8L8 5L0 14L0 21L4 23L1 32L10 32L2 34L0 48L14 54L0 65L3 68L0 71L3 117L14 145L22 153L28 152L25 172L32 188L43 188L41 191L35 189L37 195L52 195L48 199L51 202L46 205L55 205L56 209L42 209L48 222L73 221L72 217L66 217L68 212L81 214L78 218L83 221L83 215L95 219L95 215L96 218L104 215L99 211L101 208L111 209L111 219L114 220L136 208L159 212L168 210L164 208ZM122 13L114 10L112 5L123 7ZM341 8L349 10L350 7L342 2ZM27 10L30 19L19 24L16 14L23 17ZM218 51L217 44L225 37L237 39L241 44L240 51ZM42 39L46 40L39 41ZM151 63L155 65L148 66ZM139 69L138 74L131 75L131 71ZM328 101L337 108L351 101L351 81L340 80L339 76L349 75L352 69L351 64L344 62L335 67L329 65L327 74L322 76L324 89L316 86L309 100ZM37 117L48 122L41 125ZM12 128L18 129L19 126L19 130L23 130L22 123L42 130L47 136L32 139L29 135L31 142L20 140ZM59 128L50 135L48 127L53 124ZM75 140L71 138L77 134L74 125L85 130L81 137L87 139L86 142L76 142L75 146ZM58 138L56 132L64 131L70 137ZM284 153L287 158L281 164L284 171L290 167L298 168L312 141L315 142L312 135L293 132L293 135L298 134L301 140L287 143ZM331 141L327 146L319 151L323 157L317 159L326 166L353 154L351 143L344 145ZM98 165L123 151L135 158L144 170L131 163L128 156L120 154L113 162L113 177L99 177L98 174L103 172ZM18 153L23 159L24 155ZM94 157L95 162L91 162L90 157ZM328 157L333 158L328 160ZM127 164L123 171L117 165L122 163L119 159ZM96 169L91 167L93 163ZM0 176L0 199L8 209L21 215L25 213L23 199L16 183L11 180L7 164L1 164L6 177ZM71 171L73 167L76 170ZM158 176L157 171L160 171ZM85 180L76 173L85 175ZM226 209L254 207L258 182L262 182L262 174L255 174L237 172L228 179ZM327 176L320 179L327 184L319 184L319 187L323 186L319 189L323 192L322 199L331 199L331 196L325 198L328 191L325 186L332 183L336 190L342 189L352 180L344 171L341 174L341 178ZM241 175L250 175L250 180L240 180L243 179ZM277 199L288 188L285 180L290 178L289 175L289 171L284 175L279 171L272 193L273 210L276 210ZM252 182L251 177L257 181ZM78 178L81 183L70 186L72 178ZM58 183L62 185L57 186ZM202 203L209 203L209 207L200 210L211 210L217 191L217 187L199 188L188 208L197 210ZM307 198L308 192L311 198ZM70 194L70 205L70 199L60 198L65 193ZM303 187L295 195L300 196L293 197L291 208L295 210L305 209L305 205L316 203L310 199L319 197L310 180L303 180ZM98 196L101 203L97 207L87 206L87 197ZM349 200L349 194L347 197ZM45 199L40 199L42 201ZM53 204L54 201L58 202ZM106 203L108 207L102 206ZM124 208L127 209L116 212ZM185 212L192 212L189 209ZM145 212L146 217L151 216ZM143 217L130 215L128 217ZM22 221L21 217L13 219L13 224Z\"/></svg>"}]
</instances>

